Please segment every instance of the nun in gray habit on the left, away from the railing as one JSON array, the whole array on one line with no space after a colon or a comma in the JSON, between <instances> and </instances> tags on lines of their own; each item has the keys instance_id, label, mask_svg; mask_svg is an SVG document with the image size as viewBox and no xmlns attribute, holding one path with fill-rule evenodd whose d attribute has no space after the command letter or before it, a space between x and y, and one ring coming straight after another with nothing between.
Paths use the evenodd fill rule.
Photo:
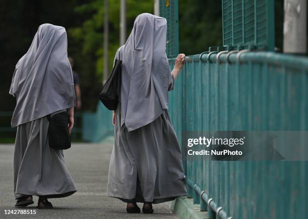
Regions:
<instances>
[{"instance_id":1,"label":"nun in gray habit on the left, away from the railing","mask_svg":"<svg viewBox=\"0 0 308 219\"><path fill-rule=\"evenodd\" d=\"M12 118L12 127L17 127L15 206L32 204L32 195L37 195L39 208L51 208L47 198L76 191L62 150L48 144L47 115L68 110L69 131L73 126L75 94L63 27L43 24L38 28L28 52L16 65L10 94L17 99Z\"/></svg>"}]
</instances>

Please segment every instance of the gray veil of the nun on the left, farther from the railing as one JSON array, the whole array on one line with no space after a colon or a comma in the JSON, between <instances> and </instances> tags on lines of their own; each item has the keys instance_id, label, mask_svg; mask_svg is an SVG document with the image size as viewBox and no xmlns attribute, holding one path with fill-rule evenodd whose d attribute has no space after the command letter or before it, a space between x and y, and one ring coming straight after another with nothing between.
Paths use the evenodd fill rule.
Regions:
<instances>
[{"instance_id":1,"label":"gray veil of the nun on the left, farther from the railing","mask_svg":"<svg viewBox=\"0 0 308 219\"><path fill-rule=\"evenodd\" d=\"M16 65L10 94L17 99L12 127L75 105L63 27L39 26L28 52Z\"/></svg>"}]
</instances>

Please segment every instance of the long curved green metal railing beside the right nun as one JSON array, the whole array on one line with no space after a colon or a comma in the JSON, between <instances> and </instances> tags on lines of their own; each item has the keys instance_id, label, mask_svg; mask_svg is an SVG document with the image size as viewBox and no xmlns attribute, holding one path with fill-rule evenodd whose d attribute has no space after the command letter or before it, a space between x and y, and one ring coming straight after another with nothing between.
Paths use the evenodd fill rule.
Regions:
<instances>
[{"instance_id":1,"label":"long curved green metal railing beside the right nun","mask_svg":"<svg viewBox=\"0 0 308 219\"><path fill-rule=\"evenodd\" d=\"M272 52L187 57L169 100L179 141L183 131L308 130L307 72L308 58ZM199 158L184 169L189 196L209 218L308 215L307 162Z\"/></svg>"}]
</instances>

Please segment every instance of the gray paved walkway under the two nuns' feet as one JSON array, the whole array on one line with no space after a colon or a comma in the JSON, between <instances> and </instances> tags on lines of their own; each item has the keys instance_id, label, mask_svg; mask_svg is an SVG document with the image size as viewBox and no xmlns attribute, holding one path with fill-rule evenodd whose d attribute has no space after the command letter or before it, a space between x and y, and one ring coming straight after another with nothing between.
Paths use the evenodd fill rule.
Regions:
<instances>
[{"instance_id":1,"label":"gray paved walkway under the two nuns' feet","mask_svg":"<svg viewBox=\"0 0 308 219\"><path fill-rule=\"evenodd\" d=\"M6 215L5 209L16 209L12 176L14 146L0 144L0 218L177 218L164 203L153 205L154 214L127 214L124 202L106 196L112 145L112 138L102 144L73 144L64 156L78 192L50 199L54 208L37 209L35 215ZM37 197L34 201L33 207Z\"/></svg>"}]
</instances>

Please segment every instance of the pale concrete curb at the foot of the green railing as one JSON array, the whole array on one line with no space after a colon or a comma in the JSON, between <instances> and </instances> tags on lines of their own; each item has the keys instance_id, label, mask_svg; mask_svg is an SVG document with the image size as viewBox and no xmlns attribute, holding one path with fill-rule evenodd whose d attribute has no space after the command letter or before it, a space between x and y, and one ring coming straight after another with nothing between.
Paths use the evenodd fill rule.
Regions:
<instances>
[{"instance_id":1,"label":"pale concrete curb at the foot of the green railing","mask_svg":"<svg viewBox=\"0 0 308 219\"><path fill-rule=\"evenodd\" d=\"M192 198L181 196L171 201L169 207L181 219L207 219L207 211L200 211L200 204L193 204Z\"/></svg>"}]
</instances>

